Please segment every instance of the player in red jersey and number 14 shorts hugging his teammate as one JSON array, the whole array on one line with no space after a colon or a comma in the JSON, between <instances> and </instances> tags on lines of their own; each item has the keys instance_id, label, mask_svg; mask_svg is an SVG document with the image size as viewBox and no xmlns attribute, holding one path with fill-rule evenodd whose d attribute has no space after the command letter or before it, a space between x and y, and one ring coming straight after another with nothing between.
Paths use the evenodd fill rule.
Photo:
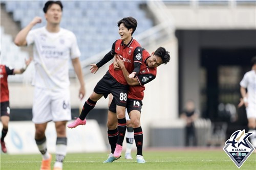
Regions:
<instances>
[{"instance_id":1,"label":"player in red jersey and number 14 shorts hugging his teammate","mask_svg":"<svg viewBox=\"0 0 256 170\"><path fill-rule=\"evenodd\" d=\"M142 145L143 145L143 132L140 125L140 114L142 107L142 99L144 97L144 84L151 82L156 78L157 68L161 64L166 64L169 62L170 56L169 52L165 50L163 47L157 48L155 52L150 55L146 50L143 50L142 53L142 65L140 67L139 74L130 79L129 71L124 67L123 61L117 56L116 62L119 65L120 69L123 72L125 80L130 85L127 99L127 112L131 118L132 127L134 129L134 139L137 147L137 162L145 163L145 160L142 156ZM115 98L115 96L114 96ZM109 113L108 113L108 137L111 145L111 152L113 153L115 150L114 146L117 142L116 134L120 133L117 131L117 115L115 110L115 100L112 100L110 104ZM110 155L104 163L113 162L116 159Z\"/></svg>"}]
</instances>

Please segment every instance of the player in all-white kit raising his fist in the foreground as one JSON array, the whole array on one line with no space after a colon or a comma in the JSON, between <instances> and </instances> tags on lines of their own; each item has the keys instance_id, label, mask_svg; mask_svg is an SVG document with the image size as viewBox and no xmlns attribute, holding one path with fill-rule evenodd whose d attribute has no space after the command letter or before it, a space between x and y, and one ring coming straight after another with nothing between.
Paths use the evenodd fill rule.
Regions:
<instances>
[{"instance_id":1,"label":"player in all-white kit raising his fist in the foreground","mask_svg":"<svg viewBox=\"0 0 256 170\"><path fill-rule=\"evenodd\" d=\"M21 30L14 42L18 46L33 45L35 86L33 100L33 122L35 123L35 141L42 154L41 169L51 169L51 154L47 151L45 130L47 123L53 120L57 132L56 161L54 169L62 169L67 153L66 123L71 120L69 95L69 60L80 82L79 98L85 94L84 80L80 66L80 51L76 36L60 28L62 16L60 1L48 1L44 12L46 27L31 30L41 22L35 17Z\"/></svg>"}]
</instances>

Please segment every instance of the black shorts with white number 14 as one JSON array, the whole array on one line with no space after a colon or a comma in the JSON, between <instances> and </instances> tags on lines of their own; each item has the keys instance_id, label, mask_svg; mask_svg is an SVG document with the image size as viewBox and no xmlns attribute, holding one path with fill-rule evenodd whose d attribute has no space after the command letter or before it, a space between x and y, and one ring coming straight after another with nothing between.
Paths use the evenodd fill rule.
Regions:
<instances>
[{"instance_id":1,"label":"black shorts with white number 14","mask_svg":"<svg viewBox=\"0 0 256 170\"><path fill-rule=\"evenodd\" d=\"M142 105L143 104L141 100L128 99L126 105L127 112L130 113L132 110L138 110L141 113ZM116 113L116 104L114 99L110 104L109 110Z\"/></svg>"}]
</instances>

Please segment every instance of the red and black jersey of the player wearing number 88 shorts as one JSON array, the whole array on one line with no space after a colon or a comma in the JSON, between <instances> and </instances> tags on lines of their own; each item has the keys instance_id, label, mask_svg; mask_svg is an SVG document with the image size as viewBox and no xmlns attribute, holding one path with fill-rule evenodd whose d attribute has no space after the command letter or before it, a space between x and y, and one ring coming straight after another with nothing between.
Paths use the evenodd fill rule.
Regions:
<instances>
[{"instance_id":1,"label":"red and black jersey of the player wearing number 88 shorts","mask_svg":"<svg viewBox=\"0 0 256 170\"><path fill-rule=\"evenodd\" d=\"M125 68L130 73L134 70L134 63L142 64L142 48L138 41L133 38L127 45L125 45L121 39L114 42L111 55L115 54L123 60ZM138 69L138 71L139 70L140 69ZM122 70L114 70L113 63L109 66L109 71L116 81L124 85L127 84Z\"/></svg>"}]
</instances>

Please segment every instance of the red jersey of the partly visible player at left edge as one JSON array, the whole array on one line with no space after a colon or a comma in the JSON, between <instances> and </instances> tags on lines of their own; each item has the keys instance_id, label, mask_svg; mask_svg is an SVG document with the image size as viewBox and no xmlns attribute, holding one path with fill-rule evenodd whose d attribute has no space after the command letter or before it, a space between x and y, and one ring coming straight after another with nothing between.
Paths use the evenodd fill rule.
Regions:
<instances>
[{"instance_id":1,"label":"red jersey of the partly visible player at left edge","mask_svg":"<svg viewBox=\"0 0 256 170\"><path fill-rule=\"evenodd\" d=\"M9 101L9 89L8 89L8 82L7 77L8 75L14 75L14 69L10 69L5 65L0 65L0 81L1 81L1 102Z\"/></svg>"}]
</instances>

